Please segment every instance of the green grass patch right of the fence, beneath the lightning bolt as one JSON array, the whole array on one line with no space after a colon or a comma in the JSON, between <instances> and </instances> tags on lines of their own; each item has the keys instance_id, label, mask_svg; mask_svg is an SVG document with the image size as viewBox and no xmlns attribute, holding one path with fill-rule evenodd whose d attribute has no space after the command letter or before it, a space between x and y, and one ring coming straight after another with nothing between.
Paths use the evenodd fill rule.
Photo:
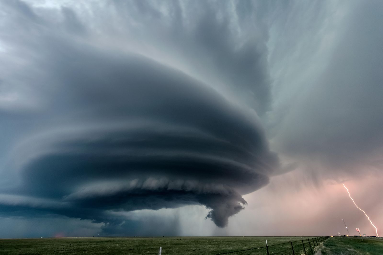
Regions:
<instances>
[{"instance_id":1,"label":"green grass patch right of the fence, beneath the lightning bolt","mask_svg":"<svg viewBox=\"0 0 383 255\"><path fill-rule=\"evenodd\" d=\"M383 239L331 237L324 242L322 255L382 255Z\"/></svg>"}]
</instances>

